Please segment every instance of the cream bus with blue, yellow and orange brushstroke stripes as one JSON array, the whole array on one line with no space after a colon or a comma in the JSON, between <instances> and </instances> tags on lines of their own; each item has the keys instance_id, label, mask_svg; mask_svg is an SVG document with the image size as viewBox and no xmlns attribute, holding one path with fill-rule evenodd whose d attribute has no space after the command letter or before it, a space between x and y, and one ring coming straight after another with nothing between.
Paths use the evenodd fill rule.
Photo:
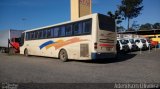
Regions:
<instances>
[{"instance_id":1,"label":"cream bus with blue, yellow and orange brushstroke stripes","mask_svg":"<svg viewBox=\"0 0 160 89\"><path fill-rule=\"evenodd\" d=\"M20 54L62 61L116 57L115 20L91 14L74 21L24 31Z\"/></svg>"}]
</instances>

